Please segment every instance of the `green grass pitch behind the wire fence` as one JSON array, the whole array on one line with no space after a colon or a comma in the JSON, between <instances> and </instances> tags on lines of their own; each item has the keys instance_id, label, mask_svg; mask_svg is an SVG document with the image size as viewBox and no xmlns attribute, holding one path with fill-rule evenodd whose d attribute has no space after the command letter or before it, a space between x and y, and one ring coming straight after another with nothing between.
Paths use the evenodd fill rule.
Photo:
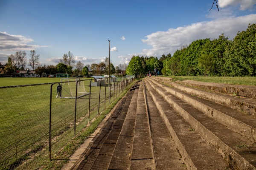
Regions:
<instances>
[{"instance_id":1,"label":"green grass pitch behind the wire fence","mask_svg":"<svg viewBox=\"0 0 256 170\"><path fill-rule=\"evenodd\" d=\"M67 141L74 136L72 129L74 129L75 112L76 134L87 125L89 95L83 96L77 101L69 98L59 99L56 98L57 84L54 84L50 98L51 84L42 84L60 81L60 78L0 78L0 87L29 85L0 88L0 169L9 161L14 161L8 165L12 169L21 164L24 155L29 158L29 154L38 153L38 150L47 150L50 99L52 100L51 139L54 143L52 144L53 154L63 147L63 145L58 146L59 144L67 144ZM89 80L83 82L87 92L90 92L91 89L90 118L93 119L97 115L98 109L100 112L104 109L105 94L107 97L106 105L110 104L110 96L113 101L113 91L108 90L108 87L102 87L99 101L99 87L90 87ZM31 84L41 85L30 86ZM62 83L63 89L64 84ZM66 84L73 84L71 85L72 88L76 87L76 82ZM101 103L100 108L98 108L99 103ZM67 133L69 133L68 136ZM66 137L68 139L65 139ZM6 156L10 158L6 159Z\"/></svg>"}]
</instances>

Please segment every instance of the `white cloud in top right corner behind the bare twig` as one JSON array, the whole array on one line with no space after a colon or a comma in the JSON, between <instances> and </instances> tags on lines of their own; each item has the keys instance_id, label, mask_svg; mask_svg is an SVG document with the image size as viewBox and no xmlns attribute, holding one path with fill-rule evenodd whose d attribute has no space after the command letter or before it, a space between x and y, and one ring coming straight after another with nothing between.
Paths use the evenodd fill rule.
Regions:
<instances>
[{"instance_id":1,"label":"white cloud in top right corner behind the bare twig","mask_svg":"<svg viewBox=\"0 0 256 170\"><path fill-rule=\"evenodd\" d=\"M221 8L239 5L241 11L253 8L255 4L256 0L218 0L218 6Z\"/></svg>"}]
</instances>

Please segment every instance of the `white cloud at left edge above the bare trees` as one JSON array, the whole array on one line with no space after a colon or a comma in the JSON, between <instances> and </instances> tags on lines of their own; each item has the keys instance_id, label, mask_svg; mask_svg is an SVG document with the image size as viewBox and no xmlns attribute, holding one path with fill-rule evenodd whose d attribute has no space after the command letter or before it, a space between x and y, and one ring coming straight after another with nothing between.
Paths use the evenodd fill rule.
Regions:
<instances>
[{"instance_id":1,"label":"white cloud at left edge above the bare trees","mask_svg":"<svg viewBox=\"0 0 256 170\"><path fill-rule=\"evenodd\" d=\"M0 31L0 51L33 50L35 48L47 47L41 45L28 44L33 41L33 39L26 38L22 35L12 35Z\"/></svg>"}]
</instances>

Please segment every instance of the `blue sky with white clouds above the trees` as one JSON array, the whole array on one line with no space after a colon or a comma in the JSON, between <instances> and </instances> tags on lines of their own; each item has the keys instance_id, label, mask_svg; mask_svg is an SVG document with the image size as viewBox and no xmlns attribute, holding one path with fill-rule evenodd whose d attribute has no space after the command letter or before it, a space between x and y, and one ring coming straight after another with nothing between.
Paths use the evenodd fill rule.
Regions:
<instances>
[{"instance_id":1,"label":"blue sky with white clouds above the trees","mask_svg":"<svg viewBox=\"0 0 256 170\"><path fill-rule=\"evenodd\" d=\"M217 0L219 11L213 2L0 0L0 62L20 50L29 60L35 50L42 65L57 65L70 51L84 65L110 54L117 66L132 56L173 55L183 45L222 33L233 40L256 23L256 0Z\"/></svg>"}]
</instances>

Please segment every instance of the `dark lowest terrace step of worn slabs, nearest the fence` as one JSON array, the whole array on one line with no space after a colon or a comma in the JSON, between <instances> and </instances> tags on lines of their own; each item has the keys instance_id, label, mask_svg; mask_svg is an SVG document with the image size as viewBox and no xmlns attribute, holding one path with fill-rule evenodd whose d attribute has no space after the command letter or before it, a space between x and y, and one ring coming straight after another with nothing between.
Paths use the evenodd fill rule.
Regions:
<instances>
[{"instance_id":1,"label":"dark lowest terrace step of worn slabs, nearest the fence","mask_svg":"<svg viewBox=\"0 0 256 170\"><path fill-rule=\"evenodd\" d=\"M77 164L73 166L73 170L104 170L108 168L133 93L134 91L129 91L127 97L122 99L120 105L106 121L99 135L95 136L93 144L91 144L90 148L87 148L81 156L81 161L78 161Z\"/></svg>"}]
</instances>

